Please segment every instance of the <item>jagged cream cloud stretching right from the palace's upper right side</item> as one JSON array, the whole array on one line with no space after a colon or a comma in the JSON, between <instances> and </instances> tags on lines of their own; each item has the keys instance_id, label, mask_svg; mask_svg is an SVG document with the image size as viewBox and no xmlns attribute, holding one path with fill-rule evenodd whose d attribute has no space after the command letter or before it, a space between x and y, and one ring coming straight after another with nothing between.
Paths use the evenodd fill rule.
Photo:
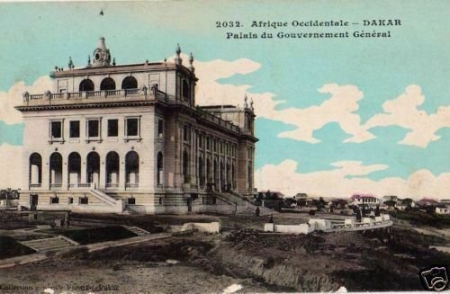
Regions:
<instances>
[{"instance_id":1,"label":"jagged cream cloud stretching right from the palace's upper right side","mask_svg":"<svg viewBox=\"0 0 450 294\"><path fill-rule=\"evenodd\" d=\"M182 56L184 60L186 56ZM243 105L244 95L251 85L222 85L217 79L236 74L246 75L259 69L261 65L247 58L234 61L213 60L209 62L195 62L196 75L200 82L197 86L196 100L201 105L211 104L239 104ZM320 94L330 94L329 98L320 105L308 108L286 108L275 110L277 105L285 101L275 101L275 94L248 94L254 101L255 112L258 117L277 120L296 129L279 134L280 138L293 138L310 143L318 143L319 139L313 137L317 129L321 129L329 122L337 122L348 134L352 141L364 141L374 138L370 132L362 128L360 117L355 111L359 109L358 101L363 93L354 85L323 85ZM350 139L349 139L350 141Z\"/></svg>"}]
</instances>

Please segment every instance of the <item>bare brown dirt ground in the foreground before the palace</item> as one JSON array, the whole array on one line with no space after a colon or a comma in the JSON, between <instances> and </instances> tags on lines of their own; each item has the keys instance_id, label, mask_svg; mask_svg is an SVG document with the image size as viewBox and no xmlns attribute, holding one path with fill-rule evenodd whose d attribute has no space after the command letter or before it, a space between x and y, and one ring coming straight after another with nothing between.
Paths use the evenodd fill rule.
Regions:
<instances>
[{"instance_id":1,"label":"bare brown dirt ground in the foreground before the palace","mask_svg":"<svg viewBox=\"0 0 450 294\"><path fill-rule=\"evenodd\" d=\"M274 218L276 223L305 220L289 214ZM39 263L0 270L0 293L42 293L46 288L55 293L222 293L233 284L242 287L240 293L335 291L341 286L349 291L410 291L423 290L420 269L450 264L450 254L428 249L449 245L446 236L424 235L405 226L394 226L391 233L287 236L263 233L268 218L127 219L159 228L219 220L223 233L193 233L90 254L55 254ZM115 223L114 218L102 222Z\"/></svg>"}]
</instances>

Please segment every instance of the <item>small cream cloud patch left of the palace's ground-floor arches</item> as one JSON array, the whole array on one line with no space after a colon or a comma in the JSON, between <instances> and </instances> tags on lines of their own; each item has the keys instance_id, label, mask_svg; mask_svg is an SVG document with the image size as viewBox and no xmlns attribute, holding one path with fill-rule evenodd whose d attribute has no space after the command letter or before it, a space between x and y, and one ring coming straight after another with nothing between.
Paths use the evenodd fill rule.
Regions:
<instances>
[{"instance_id":1,"label":"small cream cloud patch left of the palace's ground-floor arches","mask_svg":"<svg viewBox=\"0 0 450 294\"><path fill-rule=\"evenodd\" d=\"M21 187L21 158L22 147L0 145L0 189Z\"/></svg>"}]
</instances>

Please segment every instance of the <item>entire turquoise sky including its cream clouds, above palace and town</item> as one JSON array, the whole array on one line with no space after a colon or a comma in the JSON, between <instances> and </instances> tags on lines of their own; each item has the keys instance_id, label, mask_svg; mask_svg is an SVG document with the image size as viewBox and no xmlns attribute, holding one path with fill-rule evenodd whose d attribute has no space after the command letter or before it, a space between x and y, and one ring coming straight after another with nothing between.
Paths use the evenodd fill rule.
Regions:
<instances>
[{"instance_id":1,"label":"entire turquoise sky including its cream clouds, above palace and town","mask_svg":"<svg viewBox=\"0 0 450 294\"><path fill-rule=\"evenodd\" d=\"M49 72L69 57L85 67L103 36L117 64L172 58L177 43L184 64L193 52L199 104L242 105L247 94L257 114L259 190L450 199L449 12L445 0L0 3L0 187L21 185L11 158L21 154L14 105L22 93L44 93ZM363 25L379 19L401 26ZM293 26L316 20L358 24ZM350 37L276 38L342 31Z\"/></svg>"}]
</instances>

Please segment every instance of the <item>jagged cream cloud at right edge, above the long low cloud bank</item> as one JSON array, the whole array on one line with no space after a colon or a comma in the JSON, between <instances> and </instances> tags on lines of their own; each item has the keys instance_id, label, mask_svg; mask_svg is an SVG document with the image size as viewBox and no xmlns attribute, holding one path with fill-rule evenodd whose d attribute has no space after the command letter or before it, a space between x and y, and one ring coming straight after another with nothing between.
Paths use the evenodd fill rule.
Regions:
<instances>
[{"instance_id":1,"label":"jagged cream cloud at right edge, above the long low cloud bank","mask_svg":"<svg viewBox=\"0 0 450 294\"><path fill-rule=\"evenodd\" d=\"M417 147L427 147L431 141L439 139L438 129L450 127L450 106L439 107L436 113L419 111L425 101L418 85L410 85L406 92L394 100L383 103L383 113L375 114L365 123L365 129L374 127L400 126L410 129L399 143Z\"/></svg>"}]
</instances>

